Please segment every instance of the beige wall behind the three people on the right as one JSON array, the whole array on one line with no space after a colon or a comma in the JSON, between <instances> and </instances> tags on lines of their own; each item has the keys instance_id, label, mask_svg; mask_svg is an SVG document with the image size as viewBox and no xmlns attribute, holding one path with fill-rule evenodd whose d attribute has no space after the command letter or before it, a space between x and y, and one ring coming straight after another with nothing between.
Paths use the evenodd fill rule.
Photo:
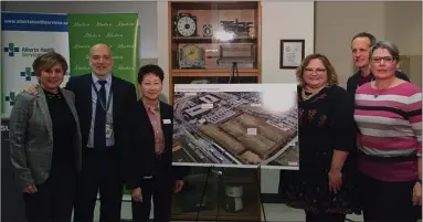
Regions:
<instances>
[{"instance_id":1,"label":"beige wall behind the three people on the right","mask_svg":"<svg viewBox=\"0 0 423 222\"><path fill-rule=\"evenodd\" d=\"M360 13L360 15L358 14ZM353 73L350 52L351 38L370 32L378 40L393 41L402 55L422 55L422 2L316 2L315 51L326 54L339 75L341 86ZM410 61L410 78L421 85L419 62ZM414 68L412 68L414 67Z\"/></svg>"}]
</instances>

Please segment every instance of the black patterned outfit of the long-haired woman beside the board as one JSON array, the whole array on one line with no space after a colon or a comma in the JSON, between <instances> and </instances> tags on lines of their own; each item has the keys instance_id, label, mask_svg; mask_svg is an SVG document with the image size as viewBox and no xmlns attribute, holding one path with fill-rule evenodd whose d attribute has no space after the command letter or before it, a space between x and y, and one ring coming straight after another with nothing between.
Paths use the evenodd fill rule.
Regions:
<instances>
[{"instance_id":1,"label":"black patterned outfit of the long-haired woman beside the board","mask_svg":"<svg viewBox=\"0 0 423 222\"><path fill-rule=\"evenodd\" d=\"M352 212L356 186L350 158L342 169L340 192L334 194L328 188L334 150L355 152L351 98L339 86L326 87L307 101L300 94L298 88L299 170L281 171L279 193L294 208Z\"/></svg>"}]
</instances>

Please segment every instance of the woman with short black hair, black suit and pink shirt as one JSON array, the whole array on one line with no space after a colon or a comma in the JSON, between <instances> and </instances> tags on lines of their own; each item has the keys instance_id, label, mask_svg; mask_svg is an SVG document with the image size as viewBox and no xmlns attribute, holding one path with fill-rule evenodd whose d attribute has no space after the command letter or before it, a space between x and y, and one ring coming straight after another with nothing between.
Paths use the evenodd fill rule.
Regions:
<instances>
[{"instance_id":1,"label":"woman with short black hair, black suit and pink shirt","mask_svg":"<svg viewBox=\"0 0 423 222\"><path fill-rule=\"evenodd\" d=\"M165 73L157 65L138 72L142 97L131 109L131 138L127 152L127 186L133 190L133 221L149 219L151 198L157 222L171 220L172 193L183 187L187 167L172 167L173 108L160 102Z\"/></svg>"}]
</instances>

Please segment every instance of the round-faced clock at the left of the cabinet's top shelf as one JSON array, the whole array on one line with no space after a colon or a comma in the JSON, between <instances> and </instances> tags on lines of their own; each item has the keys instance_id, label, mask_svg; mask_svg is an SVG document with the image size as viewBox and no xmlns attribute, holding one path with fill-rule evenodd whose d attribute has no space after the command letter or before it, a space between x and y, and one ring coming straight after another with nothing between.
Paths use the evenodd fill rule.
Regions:
<instances>
[{"instance_id":1,"label":"round-faced clock at the left of the cabinet's top shelf","mask_svg":"<svg viewBox=\"0 0 423 222\"><path fill-rule=\"evenodd\" d=\"M197 18L190 13L181 13L175 19L177 36L197 36Z\"/></svg>"}]
</instances>

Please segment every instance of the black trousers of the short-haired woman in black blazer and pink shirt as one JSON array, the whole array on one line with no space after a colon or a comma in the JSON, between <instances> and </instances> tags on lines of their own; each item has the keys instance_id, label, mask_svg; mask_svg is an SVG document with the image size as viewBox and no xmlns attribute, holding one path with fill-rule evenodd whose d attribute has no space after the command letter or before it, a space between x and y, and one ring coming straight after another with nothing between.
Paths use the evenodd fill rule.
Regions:
<instances>
[{"instance_id":1,"label":"black trousers of the short-haired woman in black blazer and pink shirt","mask_svg":"<svg viewBox=\"0 0 423 222\"><path fill-rule=\"evenodd\" d=\"M155 222L171 220L171 204L175 180L170 173L160 173L141 188L142 202L133 200L133 221L146 222L150 218L151 198L154 202Z\"/></svg>"}]
</instances>

